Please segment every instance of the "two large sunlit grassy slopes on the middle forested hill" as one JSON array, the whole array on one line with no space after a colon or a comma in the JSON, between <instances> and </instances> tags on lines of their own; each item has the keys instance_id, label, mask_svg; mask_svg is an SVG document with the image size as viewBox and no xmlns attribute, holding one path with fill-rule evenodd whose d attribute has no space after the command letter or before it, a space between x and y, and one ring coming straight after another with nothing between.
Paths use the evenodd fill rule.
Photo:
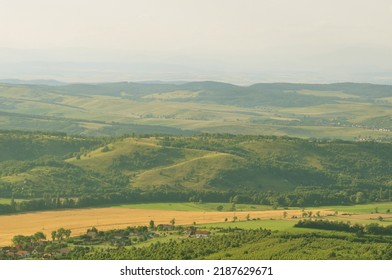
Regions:
<instances>
[{"instance_id":1,"label":"two large sunlit grassy slopes on the middle forested hill","mask_svg":"<svg viewBox=\"0 0 392 280\"><path fill-rule=\"evenodd\" d=\"M82 156L80 160L72 158L68 162L83 168L105 171L120 156L162 148L153 138L127 138L109 144L108 147L108 152L102 152L102 148L98 148ZM173 157L172 151L180 153ZM123 173L132 179L132 185L136 187L181 183L189 188L203 188L218 172L233 169L243 162L234 155L194 149L168 148L163 154L165 156L170 159L167 163L152 168L125 169Z\"/></svg>"}]
</instances>

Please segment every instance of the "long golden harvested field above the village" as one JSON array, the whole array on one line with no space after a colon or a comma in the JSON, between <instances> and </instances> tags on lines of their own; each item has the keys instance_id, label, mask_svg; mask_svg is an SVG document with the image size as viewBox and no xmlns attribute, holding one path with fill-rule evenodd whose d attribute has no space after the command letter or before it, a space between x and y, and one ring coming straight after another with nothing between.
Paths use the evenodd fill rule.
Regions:
<instances>
[{"instance_id":1,"label":"long golden harvested field above the village","mask_svg":"<svg viewBox=\"0 0 392 280\"><path fill-rule=\"evenodd\" d=\"M332 214L333 211L320 210L321 215ZM286 210L287 217L300 216L301 210ZM148 225L154 220L155 224L168 224L173 218L176 225L186 225L229 221L234 216L246 220L246 216L260 219L281 219L282 210L244 211L244 212L197 212L197 211L167 211L128 208L90 208L63 211L44 211L19 215L0 216L0 246L11 244L15 235L31 235L42 231L50 238L50 233L60 227L71 229L72 236L86 232L95 226L99 230L125 228L127 226Z\"/></svg>"}]
</instances>

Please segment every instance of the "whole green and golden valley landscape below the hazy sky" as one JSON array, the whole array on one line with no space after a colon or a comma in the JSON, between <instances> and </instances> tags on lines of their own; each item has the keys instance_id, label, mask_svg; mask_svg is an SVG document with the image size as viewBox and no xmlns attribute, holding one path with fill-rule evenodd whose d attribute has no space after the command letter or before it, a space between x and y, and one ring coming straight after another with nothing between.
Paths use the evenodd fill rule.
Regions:
<instances>
[{"instance_id":1,"label":"whole green and golden valley landscape below the hazy sky","mask_svg":"<svg viewBox=\"0 0 392 280\"><path fill-rule=\"evenodd\" d=\"M390 259L391 89L1 84L0 259Z\"/></svg>"}]
</instances>

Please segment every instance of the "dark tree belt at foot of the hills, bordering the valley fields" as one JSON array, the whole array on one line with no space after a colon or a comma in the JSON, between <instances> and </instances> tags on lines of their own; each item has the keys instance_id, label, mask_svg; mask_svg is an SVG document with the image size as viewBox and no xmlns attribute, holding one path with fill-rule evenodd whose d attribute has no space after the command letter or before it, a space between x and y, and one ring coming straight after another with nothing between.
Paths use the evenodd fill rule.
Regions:
<instances>
[{"instance_id":1,"label":"dark tree belt at foot of the hills, bordering the valley fields","mask_svg":"<svg viewBox=\"0 0 392 280\"><path fill-rule=\"evenodd\" d=\"M0 188L1 189L1 188ZM380 199L381 197L384 199ZM310 207L321 205L352 205L369 201L387 200L389 189L302 189L294 192L261 192L247 190L216 190L201 191L178 189L172 186L161 186L151 189L114 189L100 188L94 194L91 192L73 194L71 197L44 194L42 198L15 201L10 204L0 204L0 214L27 212L37 210L83 208L99 205L121 203L154 203L154 202L230 202L234 204L261 204L278 207Z\"/></svg>"}]
</instances>

